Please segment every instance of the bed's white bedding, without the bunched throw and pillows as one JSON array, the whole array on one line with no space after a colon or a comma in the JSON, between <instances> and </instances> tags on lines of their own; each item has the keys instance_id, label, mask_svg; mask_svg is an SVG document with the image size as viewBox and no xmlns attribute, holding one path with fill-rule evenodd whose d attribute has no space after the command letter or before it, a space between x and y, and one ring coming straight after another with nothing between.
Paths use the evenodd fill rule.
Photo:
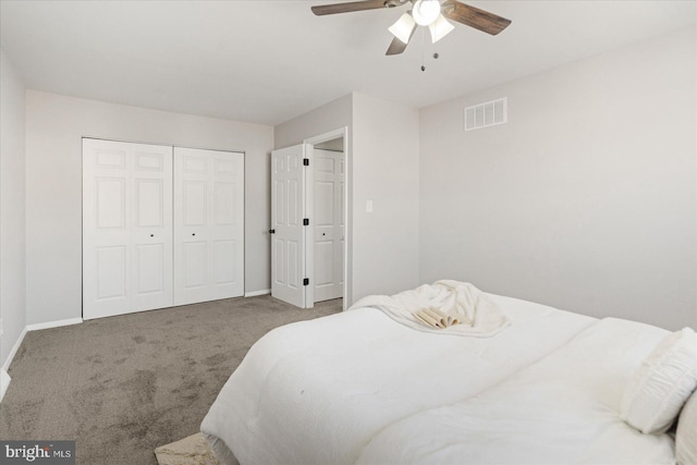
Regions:
<instances>
[{"instance_id":1,"label":"bed's white bedding, without the bunched throw and pillows","mask_svg":"<svg viewBox=\"0 0 697 465\"><path fill-rule=\"evenodd\" d=\"M201 432L223 464L597 463L619 444L616 463L674 462L671 435L617 416L669 331L484 295L510 322L491 336L419 331L362 305L278 328Z\"/></svg>"}]
</instances>

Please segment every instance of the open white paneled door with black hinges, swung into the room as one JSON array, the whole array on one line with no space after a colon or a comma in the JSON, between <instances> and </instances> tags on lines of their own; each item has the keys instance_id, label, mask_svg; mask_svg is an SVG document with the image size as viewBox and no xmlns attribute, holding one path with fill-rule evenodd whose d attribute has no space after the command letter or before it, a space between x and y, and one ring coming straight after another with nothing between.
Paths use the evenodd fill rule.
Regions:
<instances>
[{"instance_id":1,"label":"open white paneled door with black hinges, swung into the room","mask_svg":"<svg viewBox=\"0 0 697 465\"><path fill-rule=\"evenodd\" d=\"M271 295L305 308L306 144L271 152ZM310 299L311 302L311 299Z\"/></svg>"}]
</instances>

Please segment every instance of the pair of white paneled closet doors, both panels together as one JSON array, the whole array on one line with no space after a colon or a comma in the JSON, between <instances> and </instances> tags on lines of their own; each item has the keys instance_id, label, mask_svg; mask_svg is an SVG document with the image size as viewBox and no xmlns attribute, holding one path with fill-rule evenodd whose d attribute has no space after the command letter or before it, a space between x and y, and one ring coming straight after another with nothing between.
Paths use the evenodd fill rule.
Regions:
<instances>
[{"instance_id":1,"label":"pair of white paneled closet doors, both panels together","mask_svg":"<svg viewBox=\"0 0 697 465\"><path fill-rule=\"evenodd\" d=\"M244 154L83 139L83 318L244 294Z\"/></svg>"}]
</instances>

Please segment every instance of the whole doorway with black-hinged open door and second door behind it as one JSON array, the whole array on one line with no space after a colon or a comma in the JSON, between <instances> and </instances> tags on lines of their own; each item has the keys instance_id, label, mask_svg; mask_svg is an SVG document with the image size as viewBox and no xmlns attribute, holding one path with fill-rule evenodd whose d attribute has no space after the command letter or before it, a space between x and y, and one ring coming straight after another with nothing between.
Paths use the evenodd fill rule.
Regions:
<instances>
[{"instance_id":1,"label":"whole doorway with black-hinged open door and second door behind it","mask_svg":"<svg viewBox=\"0 0 697 465\"><path fill-rule=\"evenodd\" d=\"M271 295L301 308L350 296L347 127L271 152Z\"/></svg>"}]
</instances>

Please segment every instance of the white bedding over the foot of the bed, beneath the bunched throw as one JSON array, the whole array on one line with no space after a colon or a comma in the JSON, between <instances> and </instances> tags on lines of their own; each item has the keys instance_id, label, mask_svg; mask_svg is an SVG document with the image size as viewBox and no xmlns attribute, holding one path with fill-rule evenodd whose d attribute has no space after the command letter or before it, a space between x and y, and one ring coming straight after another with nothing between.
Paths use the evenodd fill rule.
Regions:
<instances>
[{"instance_id":1,"label":"white bedding over the foot of the bed, beneath the bunched throw","mask_svg":"<svg viewBox=\"0 0 697 465\"><path fill-rule=\"evenodd\" d=\"M359 308L278 328L201 424L242 464L350 464L394 421L466 399L560 347L594 318L488 296L511 319L491 338L415 331Z\"/></svg>"}]
</instances>

